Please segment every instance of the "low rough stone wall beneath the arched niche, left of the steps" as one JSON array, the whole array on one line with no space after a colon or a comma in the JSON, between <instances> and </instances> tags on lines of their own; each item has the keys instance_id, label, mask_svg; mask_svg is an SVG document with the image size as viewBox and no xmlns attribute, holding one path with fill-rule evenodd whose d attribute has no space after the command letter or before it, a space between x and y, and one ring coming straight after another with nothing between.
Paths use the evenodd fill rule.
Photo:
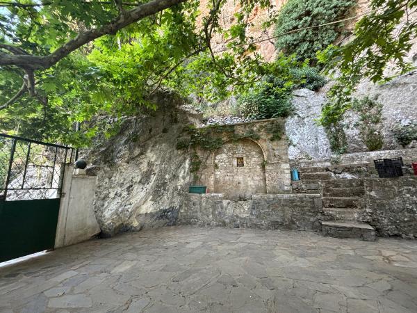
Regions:
<instances>
[{"instance_id":1,"label":"low rough stone wall beneath the arched niche, left of the steps","mask_svg":"<svg viewBox=\"0 0 417 313\"><path fill-rule=\"evenodd\" d=\"M250 227L265 230L318 230L320 195L253 195L229 200L222 194L190 194L179 213L180 225Z\"/></svg>"}]
</instances>

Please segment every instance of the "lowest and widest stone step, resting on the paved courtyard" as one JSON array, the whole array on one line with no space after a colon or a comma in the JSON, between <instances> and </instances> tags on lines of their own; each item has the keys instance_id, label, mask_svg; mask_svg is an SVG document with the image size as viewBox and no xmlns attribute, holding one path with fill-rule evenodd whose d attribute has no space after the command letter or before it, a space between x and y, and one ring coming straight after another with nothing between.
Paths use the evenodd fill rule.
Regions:
<instances>
[{"instance_id":1,"label":"lowest and widest stone step, resting on the paved courtyard","mask_svg":"<svg viewBox=\"0 0 417 313\"><path fill-rule=\"evenodd\" d=\"M375 241L375 229L368 223L352 220L322 220L322 235L336 238L356 238L364 241Z\"/></svg>"}]
</instances>

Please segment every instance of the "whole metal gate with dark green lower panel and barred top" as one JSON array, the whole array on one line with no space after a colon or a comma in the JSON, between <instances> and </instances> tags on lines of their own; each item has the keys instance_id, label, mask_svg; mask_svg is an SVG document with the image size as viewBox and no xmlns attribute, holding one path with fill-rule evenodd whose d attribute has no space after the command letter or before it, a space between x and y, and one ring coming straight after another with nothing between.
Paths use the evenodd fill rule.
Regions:
<instances>
[{"instance_id":1,"label":"whole metal gate with dark green lower panel and barred top","mask_svg":"<svg viewBox=\"0 0 417 313\"><path fill-rule=\"evenodd\" d=\"M0 134L0 262L54 248L71 147Z\"/></svg>"}]
</instances>

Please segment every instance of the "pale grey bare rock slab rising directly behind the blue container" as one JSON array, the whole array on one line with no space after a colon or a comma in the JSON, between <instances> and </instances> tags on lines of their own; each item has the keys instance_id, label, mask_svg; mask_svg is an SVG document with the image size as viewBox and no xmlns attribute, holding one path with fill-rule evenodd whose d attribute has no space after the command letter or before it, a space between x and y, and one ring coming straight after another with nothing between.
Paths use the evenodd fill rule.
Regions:
<instances>
[{"instance_id":1,"label":"pale grey bare rock slab rising directly behind the blue container","mask_svg":"<svg viewBox=\"0 0 417 313\"><path fill-rule=\"evenodd\" d=\"M288 157L291 160L329 159L330 143L325 129L316 125L322 104L326 97L308 89L295 90L293 93L294 115L286 120L286 136L289 141Z\"/></svg>"}]
</instances>

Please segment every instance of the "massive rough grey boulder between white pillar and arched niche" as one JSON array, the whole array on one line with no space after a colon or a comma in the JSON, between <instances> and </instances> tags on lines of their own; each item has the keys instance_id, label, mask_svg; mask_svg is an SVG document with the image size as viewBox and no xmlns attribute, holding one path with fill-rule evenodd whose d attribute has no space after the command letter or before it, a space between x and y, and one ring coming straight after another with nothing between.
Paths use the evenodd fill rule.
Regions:
<instances>
[{"instance_id":1,"label":"massive rough grey boulder between white pillar and arched niche","mask_svg":"<svg viewBox=\"0 0 417 313\"><path fill-rule=\"evenodd\" d=\"M177 136L191 122L174 99L124 123L120 134L87 156L97 175L95 214L104 236L143 227L175 225L190 175Z\"/></svg>"}]
</instances>

